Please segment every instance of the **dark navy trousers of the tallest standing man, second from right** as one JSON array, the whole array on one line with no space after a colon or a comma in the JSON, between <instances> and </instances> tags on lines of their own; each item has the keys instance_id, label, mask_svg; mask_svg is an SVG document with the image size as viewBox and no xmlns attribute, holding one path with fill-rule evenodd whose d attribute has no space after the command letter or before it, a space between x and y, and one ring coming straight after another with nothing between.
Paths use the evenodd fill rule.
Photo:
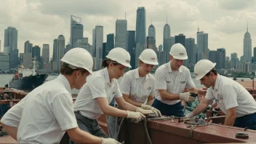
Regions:
<instances>
[{"instance_id":1,"label":"dark navy trousers of the tallest standing man, second from right","mask_svg":"<svg viewBox=\"0 0 256 144\"><path fill-rule=\"evenodd\" d=\"M161 111L161 114L166 116L177 116L177 117L183 117L184 114L184 107L181 104L181 102L176 103L174 105L167 105L165 103L161 103L160 100L153 100L152 106L154 108L159 109Z\"/></svg>"}]
</instances>

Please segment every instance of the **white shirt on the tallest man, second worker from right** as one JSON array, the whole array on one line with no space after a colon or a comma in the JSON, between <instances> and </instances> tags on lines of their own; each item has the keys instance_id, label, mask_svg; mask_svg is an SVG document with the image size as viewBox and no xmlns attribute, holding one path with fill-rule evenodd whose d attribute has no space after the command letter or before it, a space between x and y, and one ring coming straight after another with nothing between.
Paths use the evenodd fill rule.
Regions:
<instances>
[{"instance_id":1,"label":"white shirt on the tallest man, second worker from right","mask_svg":"<svg viewBox=\"0 0 256 144\"><path fill-rule=\"evenodd\" d=\"M181 65L178 71L172 71L172 61L165 63L156 69L156 89L167 89L171 94L180 94L185 88L195 87L191 78L191 72L185 66ZM156 91L156 99L167 105L174 105L180 100L162 100L159 91Z\"/></svg>"}]
</instances>

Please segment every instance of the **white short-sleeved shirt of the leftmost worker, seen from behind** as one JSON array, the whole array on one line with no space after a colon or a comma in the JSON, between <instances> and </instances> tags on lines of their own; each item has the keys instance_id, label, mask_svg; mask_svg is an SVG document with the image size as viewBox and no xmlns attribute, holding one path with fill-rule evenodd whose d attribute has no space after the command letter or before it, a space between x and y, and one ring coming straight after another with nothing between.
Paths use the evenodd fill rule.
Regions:
<instances>
[{"instance_id":1,"label":"white short-sleeved shirt of the leftmost worker, seen from behind","mask_svg":"<svg viewBox=\"0 0 256 144\"><path fill-rule=\"evenodd\" d=\"M18 127L18 143L59 143L65 130L77 127L68 80L60 75L29 92L1 122Z\"/></svg>"}]
</instances>

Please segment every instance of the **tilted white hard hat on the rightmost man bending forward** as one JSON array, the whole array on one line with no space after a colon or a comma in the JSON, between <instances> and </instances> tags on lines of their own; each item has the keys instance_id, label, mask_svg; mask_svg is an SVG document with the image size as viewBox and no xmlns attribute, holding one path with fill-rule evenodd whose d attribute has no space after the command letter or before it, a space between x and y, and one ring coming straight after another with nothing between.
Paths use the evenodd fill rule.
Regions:
<instances>
[{"instance_id":1,"label":"tilted white hard hat on the rightmost man bending forward","mask_svg":"<svg viewBox=\"0 0 256 144\"><path fill-rule=\"evenodd\" d=\"M194 68L194 73L196 76L196 80L200 80L204 77L212 68L215 68L216 63L212 63L209 60L200 60L196 63Z\"/></svg>"}]
</instances>

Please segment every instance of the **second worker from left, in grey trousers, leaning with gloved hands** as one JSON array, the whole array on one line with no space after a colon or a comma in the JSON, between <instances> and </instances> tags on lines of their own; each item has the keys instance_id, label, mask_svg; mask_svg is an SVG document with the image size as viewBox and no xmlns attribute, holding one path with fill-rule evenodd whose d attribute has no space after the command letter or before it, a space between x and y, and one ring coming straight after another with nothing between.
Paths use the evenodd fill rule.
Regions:
<instances>
[{"instance_id":1,"label":"second worker from left, in grey trousers, leaning with gloved hands","mask_svg":"<svg viewBox=\"0 0 256 144\"><path fill-rule=\"evenodd\" d=\"M144 119L143 114L153 113L151 110L143 110L125 102L119 90L116 79L123 76L127 67L131 68L129 52L116 47L111 49L106 57L107 59L102 63L103 69L90 76L74 103L76 120L80 129L98 137L108 137L97 122L103 113L109 116L127 117L136 121ZM123 110L109 105L113 98Z\"/></svg>"}]
</instances>

